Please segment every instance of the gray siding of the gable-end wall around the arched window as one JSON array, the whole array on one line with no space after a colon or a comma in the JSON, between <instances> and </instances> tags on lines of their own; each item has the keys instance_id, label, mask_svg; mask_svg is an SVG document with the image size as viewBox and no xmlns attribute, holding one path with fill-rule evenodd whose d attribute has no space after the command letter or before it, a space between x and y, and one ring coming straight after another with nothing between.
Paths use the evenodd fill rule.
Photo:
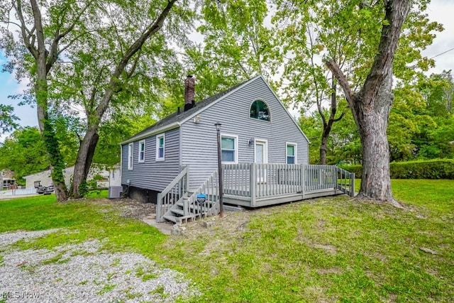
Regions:
<instances>
[{"instance_id":1,"label":"gray siding of the gable-end wall around the arched window","mask_svg":"<svg viewBox=\"0 0 454 303\"><path fill-rule=\"evenodd\" d=\"M270 111L270 121L250 118L250 104L260 99ZM251 138L267 140L268 163L285 163L286 143L297 143L297 163L309 163L309 143L282 103L262 77L236 90L202 111L199 123L189 119L181 126L182 165L189 165L189 187L199 187L217 168L216 128L221 134L238 136L238 162L254 162ZM127 155L126 155L127 156Z\"/></svg>"}]
</instances>

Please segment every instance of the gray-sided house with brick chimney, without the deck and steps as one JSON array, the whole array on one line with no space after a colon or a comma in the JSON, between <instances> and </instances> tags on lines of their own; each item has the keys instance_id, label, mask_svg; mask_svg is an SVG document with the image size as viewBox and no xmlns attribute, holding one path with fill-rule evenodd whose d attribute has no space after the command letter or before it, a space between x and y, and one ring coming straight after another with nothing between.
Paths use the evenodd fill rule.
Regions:
<instances>
[{"instance_id":1,"label":"gray-sided house with brick chimney, without the deck and steps","mask_svg":"<svg viewBox=\"0 0 454 303\"><path fill-rule=\"evenodd\" d=\"M155 202L184 166L190 189L205 182L217 170L216 122L223 164L309 163L308 139L262 76L197 103L194 79L185 85L184 111L121 143L121 183L130 197Z\"/></svg>"}]
</instances>

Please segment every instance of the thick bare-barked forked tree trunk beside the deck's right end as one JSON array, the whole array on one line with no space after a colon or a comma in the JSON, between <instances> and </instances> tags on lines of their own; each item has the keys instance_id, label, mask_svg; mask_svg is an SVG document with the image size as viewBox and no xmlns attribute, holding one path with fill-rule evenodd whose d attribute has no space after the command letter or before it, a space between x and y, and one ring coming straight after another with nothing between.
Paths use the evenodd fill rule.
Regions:
<instances>
[{"instance_id":1,"label":"thick bare-barked forked tree trunk beside the deck's right end","mask_svg":"<svg viewBox=\"0 0 454 303\"><path fill-rule=\"evenodd\" d=\"M409 0L384 0L384 18L377 55L360 89L354 91L336 60L326 58L328 68L341 85L353 111L362 145L360 199L387 201L399 206L391 191L387 126L394 100L392 67L402 25L411 9Z\"/></svg>"}]
</instances>

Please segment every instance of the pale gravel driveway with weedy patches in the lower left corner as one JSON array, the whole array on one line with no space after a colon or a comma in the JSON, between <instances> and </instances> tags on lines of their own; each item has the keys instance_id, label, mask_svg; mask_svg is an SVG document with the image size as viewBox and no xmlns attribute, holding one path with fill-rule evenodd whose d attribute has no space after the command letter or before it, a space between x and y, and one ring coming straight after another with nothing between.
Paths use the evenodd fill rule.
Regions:
<instances>
[{"instance_id":1,"label":"pale gravel driveway with weedy patches in the lower left corner","mask_svg":"<svg viewBox=\"0 0 454 303\"><path fill-rule=\"evenodd\" d=\"M98 240L52 250L10 246L55 232L64 231L0 233L0 302L175 302L199 294L143 255L99 252Z\"/></svg>"}]
</instances>

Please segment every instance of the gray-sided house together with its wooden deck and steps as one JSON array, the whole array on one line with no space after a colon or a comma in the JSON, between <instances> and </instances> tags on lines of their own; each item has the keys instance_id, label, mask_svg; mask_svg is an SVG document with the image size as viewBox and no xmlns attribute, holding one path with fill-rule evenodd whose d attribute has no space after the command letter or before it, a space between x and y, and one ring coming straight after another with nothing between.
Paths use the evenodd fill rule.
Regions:
<instances>
[{"instance_id":1,"label":"gray-sided house together with its wooden deck and steps","mask_svg":"<svg viewBox=\"0 0 454 303\"><path fill-rule=\"evenodd\" d=\"M309 165L308 139L262 76L197 103L194 79L184 84L184 111L121 143L123 194L155 202L158 222L220 214L223 203L259 207L353 195L354 174Z\"/></svg>"}]
</instances>

